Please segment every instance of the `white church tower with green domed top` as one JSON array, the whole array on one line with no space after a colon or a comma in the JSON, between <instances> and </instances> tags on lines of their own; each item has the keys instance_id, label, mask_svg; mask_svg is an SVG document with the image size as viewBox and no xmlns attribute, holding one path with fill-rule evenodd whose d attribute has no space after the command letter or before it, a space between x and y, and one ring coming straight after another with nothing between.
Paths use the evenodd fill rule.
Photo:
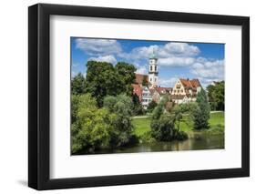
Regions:
<instances>
[{"instance_id":1,"label":"white church tower with green domed top","mask_svg":"<svg viewBox=\"0 0 256 194\"><path fill-rule=\"evenodd\" d=\"M158 58L153 51L152 55L149 56L149 69L148 69L148 81L151 84L151 87L158 87L159 81L159 67L158 67Z\"/></svg>"}]
</instances>

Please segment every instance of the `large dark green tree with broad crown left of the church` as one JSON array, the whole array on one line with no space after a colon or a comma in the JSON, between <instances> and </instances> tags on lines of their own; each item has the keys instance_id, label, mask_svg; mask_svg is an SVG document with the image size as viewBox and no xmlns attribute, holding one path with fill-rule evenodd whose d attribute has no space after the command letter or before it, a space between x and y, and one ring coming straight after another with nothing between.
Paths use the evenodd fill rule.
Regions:
<instances>
[{"instance_id":1,"label":"large dark green tree with broad crown left of the church","mask_svg":"<svg viewBox=\"0 0 256 194\"><path fill-rule=\"evenodd\" d=\"M85 92L96 97L98 107L103 106L104 97L121 93L131 96L135 70L134 66L127 63L113 66L107 62L88 61Z\"/></svg>"}]
</instances>

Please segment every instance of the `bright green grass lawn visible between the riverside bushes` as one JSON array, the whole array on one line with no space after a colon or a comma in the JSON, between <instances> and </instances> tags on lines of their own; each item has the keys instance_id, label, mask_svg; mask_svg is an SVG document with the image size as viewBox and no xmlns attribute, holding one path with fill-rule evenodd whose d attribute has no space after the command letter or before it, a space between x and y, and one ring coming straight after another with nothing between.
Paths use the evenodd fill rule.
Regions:
<instances>
[{"instance_id":1,"label":"bright green grass lawn visible between the riverside bushes","mask_svg":"<svg viewBox=\"0 0 256 194\"><path fill-rule=\"evenodd\" d=\"M184 116L180 123L180 130L189 132L193 129L193 124L189 122L189 116ZM141 137L144 133L150 130L150 117L133 117L132 122L135 127L135 134ZM210 133L217 133L224 130L224 112L210 113Z\"/></svg>"}]
</instances>

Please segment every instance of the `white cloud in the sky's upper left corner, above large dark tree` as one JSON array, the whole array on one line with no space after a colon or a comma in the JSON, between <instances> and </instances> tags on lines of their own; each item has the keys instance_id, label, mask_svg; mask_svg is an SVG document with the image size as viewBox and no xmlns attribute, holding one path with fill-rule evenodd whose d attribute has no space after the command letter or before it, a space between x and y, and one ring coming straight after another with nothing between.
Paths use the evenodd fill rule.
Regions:
<instances>
[{"instance_id":1,"label":"white cloud in the sky's upper left corner, above large dark tree","mask_svg":"<svg viewBox=\"0 0 256 194\"><path fill-rule=\"evenodd\" d=\"M122 52L122 48L117 40L77 38L76 44L77 48L83 50L90 56L102 56Z\"/></svg>"}]
</instances>

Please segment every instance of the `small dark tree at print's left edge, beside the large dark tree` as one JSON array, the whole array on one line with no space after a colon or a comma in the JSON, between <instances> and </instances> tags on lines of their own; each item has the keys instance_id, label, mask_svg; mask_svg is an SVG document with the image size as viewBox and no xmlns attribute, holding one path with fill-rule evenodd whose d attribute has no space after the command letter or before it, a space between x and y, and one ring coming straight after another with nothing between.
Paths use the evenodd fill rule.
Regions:
<instances>
[{"instance_id":1,"label":"small dark tree at print's left edge, beside the large dark tree","mask_svg":"<svg viewBox=\"0 0 256 194\"><path fill-rule=\"evenodd\" d=\"M85 92L85 77L78 73L71 80L71 92L73 95L83 94Z\"/></svg>"}]
</instances>

